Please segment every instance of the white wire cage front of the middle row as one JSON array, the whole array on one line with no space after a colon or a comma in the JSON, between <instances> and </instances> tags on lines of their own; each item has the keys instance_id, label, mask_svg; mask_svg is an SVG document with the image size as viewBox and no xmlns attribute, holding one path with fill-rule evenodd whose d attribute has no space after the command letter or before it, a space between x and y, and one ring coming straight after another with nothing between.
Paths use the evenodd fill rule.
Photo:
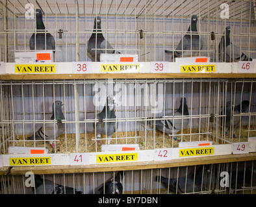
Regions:
<instances>
[{"instance_id":1,"label":"white wire cage front of the middle row","mask_svg":"<svg viewBox=\"0 0 256 207\"><path fill-rule=\"evenodd\" d=\"M82 153L101 151L106 144L138 144L144 150L203 140L247 142L255 136L253 79L1 80L0 90L2 154L12 146ZM112 117L105 107L110 96L115 98ZM58 100L61 123L53 114ZM181 100L188 114L177 113L185 111ZM101 136L95 125L104 128ZM111 127L116 131L109 133Z\"/></svg>"}]
</instances>

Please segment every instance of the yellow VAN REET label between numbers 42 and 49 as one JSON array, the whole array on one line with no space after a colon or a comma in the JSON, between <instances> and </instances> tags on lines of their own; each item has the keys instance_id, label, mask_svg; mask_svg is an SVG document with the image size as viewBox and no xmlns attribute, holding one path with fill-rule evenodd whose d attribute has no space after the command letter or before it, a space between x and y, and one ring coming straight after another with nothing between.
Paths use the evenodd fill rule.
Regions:
<instances>
[{"instance_id":1,"label":"yellow VAN REET label between numbers 42 and 49","mask_svg":"<svg viewBox=\"0 0 256 207\"><path fill-rule=\"evenodd\" d=\"M213 153L214 153L214 147L179 149L179 157L213 155Z\"/></svg>"}]
</instances>

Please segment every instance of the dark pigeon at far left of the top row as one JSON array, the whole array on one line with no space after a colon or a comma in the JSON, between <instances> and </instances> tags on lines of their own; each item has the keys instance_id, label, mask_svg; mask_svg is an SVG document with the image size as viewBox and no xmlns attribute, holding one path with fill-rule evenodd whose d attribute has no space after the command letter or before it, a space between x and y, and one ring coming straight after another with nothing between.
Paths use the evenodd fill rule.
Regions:
<instances>
[{"instance_id":1,"label":"dark pigeon at far left of the top row","mask_svg":"<svg viewBox=\"0 0 256 207\"><path fill-rule=\"evenodd\" d=\"M42 11L36 9L36 34L32 34L29 40L31 50L45 50L45 27L42 18ZM46 50L53 50L55 53L55 39L49 33L46 33Z\"/></svg>"}]
</instances>

